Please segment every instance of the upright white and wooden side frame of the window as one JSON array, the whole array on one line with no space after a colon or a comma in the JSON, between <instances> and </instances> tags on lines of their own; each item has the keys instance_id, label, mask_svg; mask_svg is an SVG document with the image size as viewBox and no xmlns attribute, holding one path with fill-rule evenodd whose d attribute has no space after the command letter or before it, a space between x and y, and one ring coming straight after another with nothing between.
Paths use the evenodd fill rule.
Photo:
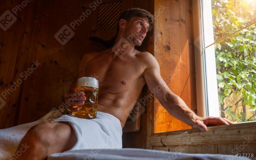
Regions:
<instances>
[{"instance_id":1,"label":"upright white and wooden side frame of the window","mask_svg":"<svg viewBox=\"0 0 256 160\"><path fill-rule=\"evenodd\" d=\"M198 115L220 117L211 0L193 0L193 17Z\"/></svg>"}]
</instances>

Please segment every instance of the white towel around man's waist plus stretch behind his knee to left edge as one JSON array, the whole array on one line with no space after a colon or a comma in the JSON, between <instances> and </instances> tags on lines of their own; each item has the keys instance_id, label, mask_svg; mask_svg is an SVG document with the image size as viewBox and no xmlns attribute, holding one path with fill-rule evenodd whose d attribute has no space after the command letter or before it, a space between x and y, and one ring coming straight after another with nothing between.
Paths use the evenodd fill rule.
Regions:
<instances>
[{"instance_id":1,"label":"white towel around man's waist plus stretch behind his knee to left edge","mask_svg":"<svg viewBox=\"0 0 256 160\"><path fill-rule=\"evenodd\" d=\"M71 150L122 148L122 127L119 119L115 116L98 111L97 118L83 119L62 115L59 110L53 109L35 122L1 129L0 160L15 159L15 157L18 157L15 151L27 131L32 126L49 121L67 121L71 124L77 136L77 143ZM24 147L26 148L26 144L24 144Z\"/></svg>"}]
</instances>

